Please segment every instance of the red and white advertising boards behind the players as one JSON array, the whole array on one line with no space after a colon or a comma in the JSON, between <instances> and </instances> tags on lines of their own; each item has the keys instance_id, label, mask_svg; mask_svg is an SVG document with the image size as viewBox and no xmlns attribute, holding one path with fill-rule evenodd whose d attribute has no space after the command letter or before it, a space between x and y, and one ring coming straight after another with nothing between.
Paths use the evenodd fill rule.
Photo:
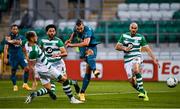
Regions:
<instances>
[{"instance_id":1,"label":"red and white advertising boards behind the players","mask_svg":"<svg viewBox=\"0 0 180 109\"><path fill-rule=\"evenodd\" d=\"M81 60L66 60L67 73L72 79L82 80L85 74L85 62ZM142 75L145 81L166 81L170 76L180 80L180 62L161 60L160 67L151 60L145 60L142 66ZM98 60L97 69L101 75L98 79L92 74L93 80L127 80L123 60Z\"/></svg>"}]
</instances>

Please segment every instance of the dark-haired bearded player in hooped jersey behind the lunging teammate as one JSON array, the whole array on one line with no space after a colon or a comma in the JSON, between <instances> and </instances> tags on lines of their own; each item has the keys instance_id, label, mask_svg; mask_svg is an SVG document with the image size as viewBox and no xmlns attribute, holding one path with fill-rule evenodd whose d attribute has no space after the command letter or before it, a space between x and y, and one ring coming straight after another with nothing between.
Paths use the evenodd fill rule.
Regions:
<instances>
[{"instance_id":1,"label":"dark-haired bearded player in hooped jersey behind the lunging teammate","mask_svg":"<svg viewBox=\"0 0 180 109\"><path fill-rule=\"evenodd\" d=\"M56 69L62 71L64 76L66 74L66 66L62 57L67 56L67 51L64 47L64 44L61 39L57 38L56 35L56 26L53 24L46 26L47 37L40 41L40 48L44 51L45 56L48 58L48 61L52 63ZM75 80L69 79L70 85L74 85L76 93L79 93L80 88ZM63 86L65 91L65 86Z\"/></svg>"}]
</instances>

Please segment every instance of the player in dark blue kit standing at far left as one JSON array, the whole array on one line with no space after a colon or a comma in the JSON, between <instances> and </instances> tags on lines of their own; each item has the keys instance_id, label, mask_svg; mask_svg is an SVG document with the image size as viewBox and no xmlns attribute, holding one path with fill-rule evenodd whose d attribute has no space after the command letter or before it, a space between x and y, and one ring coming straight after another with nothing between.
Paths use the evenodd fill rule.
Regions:
<instances>
[{"instance_id":1,"label":"player in dark blue kit standing at far left","mask_svg":"<svg viewBox=\"0 0 180 109\"><path fill-rule=\"evenodd\" d=\"M27 61L24 57L22 47L19 44L25 38L19 35L18 32L18 25L12 25L11 33L8 36L6 36L6 44L4 47L4 63L7 64L9 62L11 66L11 80L13 83L13 90L18 91L18 86L16 85L16 71L18 69L18 65L20 65L24 70L24 84L22 87L26 90L31 90L31 88L27 84L29 77ZM8 54L9 60L7 58Z\"/></svg>"}]
</instances>

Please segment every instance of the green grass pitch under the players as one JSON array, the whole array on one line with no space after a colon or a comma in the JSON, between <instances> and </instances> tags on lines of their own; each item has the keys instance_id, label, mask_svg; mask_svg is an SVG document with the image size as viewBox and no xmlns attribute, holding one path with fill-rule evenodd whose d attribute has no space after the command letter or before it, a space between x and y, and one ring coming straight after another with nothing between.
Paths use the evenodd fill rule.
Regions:
<instances>
[{"instance_id":1,"label":"green grass pitch under the players","mask_svg":"<svg viewBox=\"0 0 180 109\"><path fill-rule=\"evenodd\" d=\"M30 92L20 87L22 82L18 81L19 91L13 92L11 82L1 80L0 108L180 108L180 85L169 88L165 82L145 82L150 101L144 102L128 82L91 81L84 104L70 104L61 85L56 85L56 101L46 95L25 104Z\"/></svg>"}]
</instances>

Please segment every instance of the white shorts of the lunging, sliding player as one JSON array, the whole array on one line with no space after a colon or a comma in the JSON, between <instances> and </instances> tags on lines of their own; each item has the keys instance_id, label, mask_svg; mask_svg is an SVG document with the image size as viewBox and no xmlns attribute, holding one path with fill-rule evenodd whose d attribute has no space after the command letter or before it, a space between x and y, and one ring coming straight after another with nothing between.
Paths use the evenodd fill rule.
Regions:
<instances>
[{"instance_id":1,"label":"white shorts of the lunging, sliding player","mask_svg":"<svg viewBox=\"0 0 180 109\"><path fill-rule=\"evenodd\" d=\"M42 85L50 83L51 79L58 80L60 75L64 75L62 71L59 71L54 66L51 66L51 69L48 69L47 66L42 63L37 63L35 65L35 72L38 72Z\"/></svg>"}]
</instances>

